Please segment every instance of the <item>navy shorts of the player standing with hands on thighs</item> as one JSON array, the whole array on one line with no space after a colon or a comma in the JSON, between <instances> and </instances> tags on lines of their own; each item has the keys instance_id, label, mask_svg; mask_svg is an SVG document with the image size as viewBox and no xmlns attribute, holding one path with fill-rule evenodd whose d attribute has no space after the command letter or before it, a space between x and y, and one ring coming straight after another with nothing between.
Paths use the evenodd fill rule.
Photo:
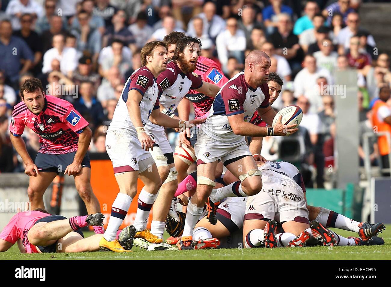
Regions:
<instances>
[{"instance_id":1,"label":"navy shorts of the player standing with hands on thighs","mask_svg":"<svg viewBox=\"0 0 391 287\"><path fill-rule=\"evenodd\" d=\"M35 165L38 167L38 171L43 172L55 172L57 174L64 173L67 166L72 164L76 152L51 154L51 153L38 153L35 158ZM86 153L83 161L81 162L82 168L91 168L90 157Z\"/></svg>"}]
</instances>

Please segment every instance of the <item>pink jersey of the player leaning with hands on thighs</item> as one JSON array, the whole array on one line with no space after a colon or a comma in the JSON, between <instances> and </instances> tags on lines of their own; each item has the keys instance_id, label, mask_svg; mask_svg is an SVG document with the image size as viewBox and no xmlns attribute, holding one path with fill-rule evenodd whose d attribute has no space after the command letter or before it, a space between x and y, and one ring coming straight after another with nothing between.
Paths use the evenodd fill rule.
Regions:
<instances>
[{"instance_id":1,"label":"pink jersey of the player leaning with hands on thighs","mask_svg":"<svg viewBox=\"0 0 391 287\"><path fill-rule=\"evenodd\" d=\"M70 102L45 95L45 107L38 115L33 114L24 102L14 107L10 132L20 136L25 126L39 135L40 153L60 154L77 151L79 134L88 122Z\"/></svg>"}]
</instances>

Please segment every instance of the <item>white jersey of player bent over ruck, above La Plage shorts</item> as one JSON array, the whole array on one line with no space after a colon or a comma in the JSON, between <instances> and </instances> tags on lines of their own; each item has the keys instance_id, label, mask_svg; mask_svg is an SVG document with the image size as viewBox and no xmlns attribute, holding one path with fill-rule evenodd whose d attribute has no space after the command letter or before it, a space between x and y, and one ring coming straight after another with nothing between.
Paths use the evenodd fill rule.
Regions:
<instances>
[{"instance_id":1,"label":"white jersey of player bent over ruck, above La Plage shorts","mask_svg":"<svg viewBox=\"0 0 391 287\"><path fill-rule=\"evenodd\" d=\"M267 161L263 166L258 167L262 171L262 176L287 176L293 179L298 185L300 185L303 192L305 192L305 186L303 177L300 171L293 164L286 161Z\"/></svg>"}]
</instances>

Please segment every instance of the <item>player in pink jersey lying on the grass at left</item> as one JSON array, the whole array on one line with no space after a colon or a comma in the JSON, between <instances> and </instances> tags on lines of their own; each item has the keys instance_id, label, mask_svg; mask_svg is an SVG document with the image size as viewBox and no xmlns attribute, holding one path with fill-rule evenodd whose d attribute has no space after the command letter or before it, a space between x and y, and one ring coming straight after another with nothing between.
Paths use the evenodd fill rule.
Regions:
<instances>
[{"instance_id":1,"label":"player in pink jersey lying on the grass at left","mask_svg":"<svg viewBox=\"0 0 391 287\"><path fill-rule=\"evenodd\" d=\"M16 242L21 253L97 251L103 234L84 238L80 228L103 226L103 218L102 213L66 219L45 209L18 212L0 233L0 252Z\"/></svg>"}]
</instances>

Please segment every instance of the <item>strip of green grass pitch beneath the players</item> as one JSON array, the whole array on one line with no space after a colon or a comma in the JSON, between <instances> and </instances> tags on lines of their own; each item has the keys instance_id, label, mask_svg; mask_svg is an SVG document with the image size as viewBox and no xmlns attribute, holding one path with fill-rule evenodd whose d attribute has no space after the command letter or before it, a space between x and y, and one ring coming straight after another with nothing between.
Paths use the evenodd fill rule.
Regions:
<instances>
[{"instance_id":1,"label":"strip of green grass pitch beneath the players","mask_svg":"<svg viewBox=\"0 0 391 287\"><path fill-rule=\"evenodd\" d=\"M349 237L357 236L353 232L334 229L339 235ZM86 234L86 235L91 235ZM0 260L390 260L391 259L391 225L383 233L379 234L386 242L383 246L317 246L308 248L276 248L276 249L220 249L220 250L189 250L189 251L145 251L136 246L132 253L112 253L109 251L84 252L84 253L40 253L20 254L16 244L7 252L0 253Z\"/></svg>"}]
</instances>

